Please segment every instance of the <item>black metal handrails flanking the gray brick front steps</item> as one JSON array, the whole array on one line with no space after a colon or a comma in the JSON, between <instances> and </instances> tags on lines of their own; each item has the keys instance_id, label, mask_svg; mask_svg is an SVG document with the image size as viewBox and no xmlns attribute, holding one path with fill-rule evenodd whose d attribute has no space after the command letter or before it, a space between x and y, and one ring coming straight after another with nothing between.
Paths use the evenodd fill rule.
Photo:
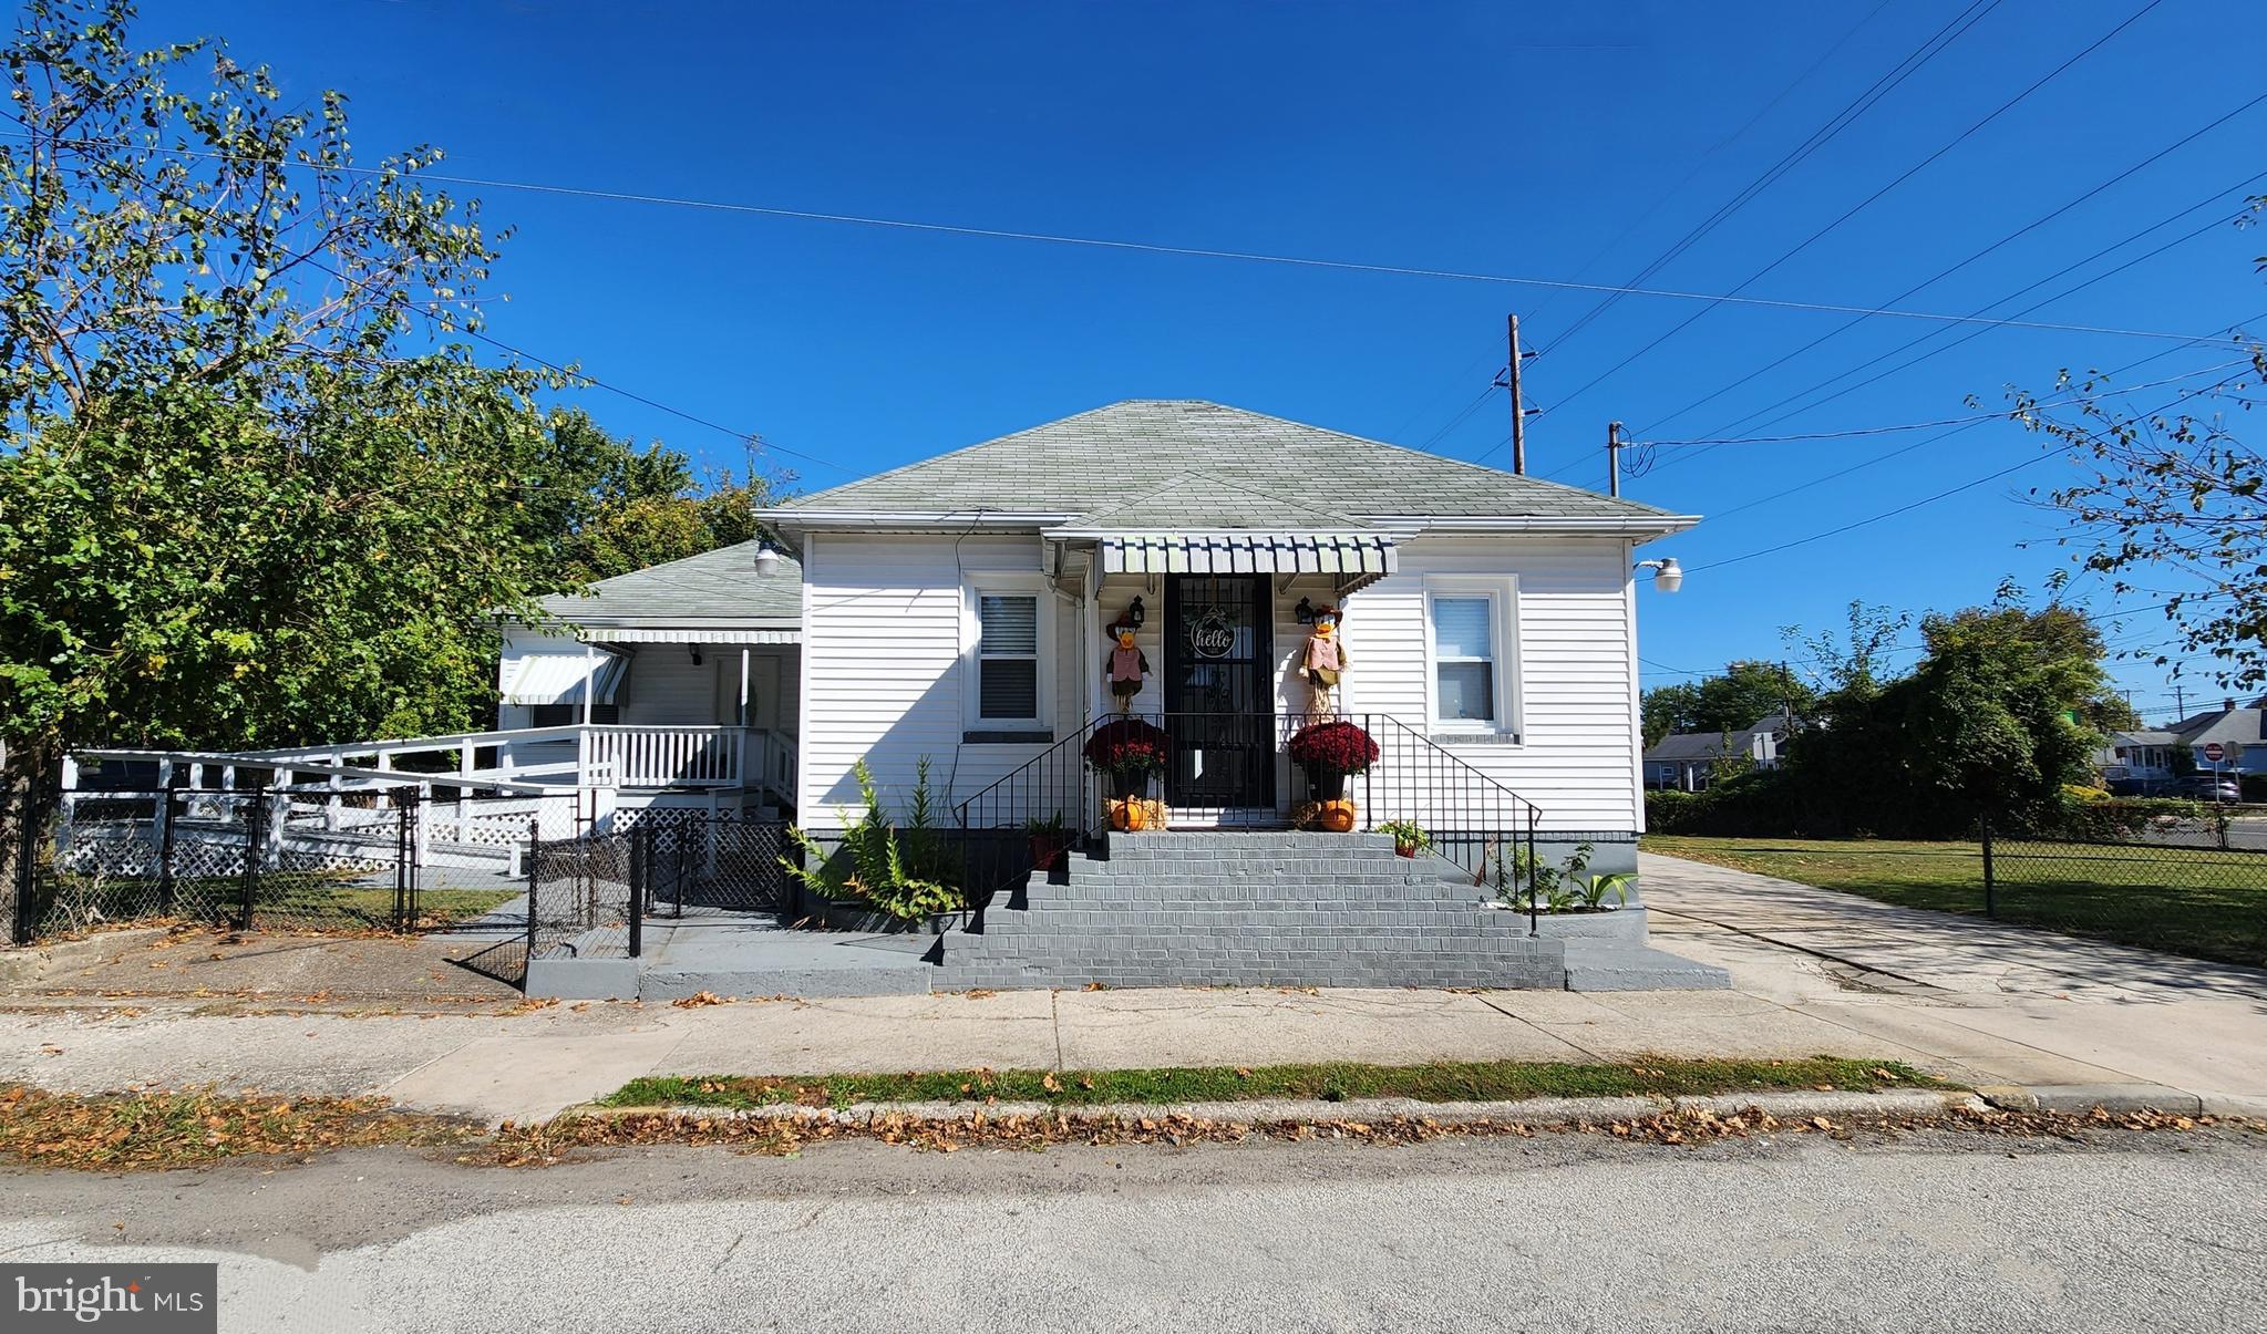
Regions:
<instances>
[{"instance_id":1,"label":"black metal handrails flanking the gray brick front steps","mask_svg":"<svg viewBox=\"0 0 2267 1334\"><path fill-rule=\"evenodd\" d=\"M1090 847L1109 824L1106 797L1118 795L1109 775L1086 763L1097 727L1136 718L1165 732L1170 763L1163 795L1199 793L1211 822L1245 827L1313 824L1326 799L1356 802L1358 829L1412 822L1433 854L1471 876L1494 883L1517 904L1521 892L1535 915L1535 849L1542 820L1535 802L1458 756L1421 729L1390 713L1111 713L1054 741L1004 777L954 806L966 849L973 906L1022 883L1041 854ZM1290 759L1290 738L1317 722L1353 722L1369 734L1378 759L1335 779ZM1145 781L1140 795L1154 790ZM1217 799L1217 802L1215 802ZM1183 802L1179 815L1188 813ZM1061 820L1050 840L1031 822Z\"/></svg>"}]
</instances>

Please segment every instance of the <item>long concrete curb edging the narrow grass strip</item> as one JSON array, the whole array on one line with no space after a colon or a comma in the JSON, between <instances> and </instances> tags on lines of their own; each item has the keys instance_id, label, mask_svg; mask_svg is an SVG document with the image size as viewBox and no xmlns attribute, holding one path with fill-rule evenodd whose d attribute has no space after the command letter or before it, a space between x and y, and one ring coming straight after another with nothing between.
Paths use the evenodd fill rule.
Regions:
<instances>
[{"instance_id":1,"label":"long concrete curb edging the narrow grass strip","mask_svg":"<svg viewBox=\"0 0 2267 1334\"><path fill-rule=\"evenodd\" d=\"M1582 1121L1637 1121L1662 1112L1709 1112L1730 1117L1734 1112L1766 1112L1782 1119L1807 1117L1941 1117L1952 1110L1984 1108L1984 1098L1956 1089L1893 1089L1882 1094L1850 1092L1771 1092L1771 1094L1712 1094L1712 1096L1630 1096L1630 1098L1517 1098L1489 1103L1424 1103L1417 1098L1351 1098L1326 1103L1322 1098L1247 1098L1236 1103L1090 1103L1059 1108L1054 1103L852 1103L848 1108L805 1108L780 1103L773 1108L580 1108L583 1117L635 1117L662 1112L669 1117L707 1121L834 1121L841 1126L864 1126L882 1117L905 1121L966 1121L970 1117L1054 1117L1070 1121L1521 1121L1530 1126L1573 1126Z\"/></svg>"}]
</instances>

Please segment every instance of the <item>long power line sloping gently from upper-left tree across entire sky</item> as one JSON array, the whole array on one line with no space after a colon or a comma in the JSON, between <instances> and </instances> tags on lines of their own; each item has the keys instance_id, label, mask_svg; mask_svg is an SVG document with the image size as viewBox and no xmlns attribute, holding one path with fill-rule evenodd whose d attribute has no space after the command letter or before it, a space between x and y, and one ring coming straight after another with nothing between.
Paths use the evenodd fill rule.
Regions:
<instances>
[{"instance_id":1,"label":"long power line sloping gently from upper-left tree across entire sky","mask_svg":"<svg viewBox=\"0 0 2267 1334\"><path fill-rule=\"evenodd\" d=\"M2156 2L2163 2L2163 0L2156 0ZM0 136L0 138L29 138L29 136ZM54 143L73 143L73 145L84 145L84 147L104 147L102 140L61 140L59 138ZM165 152L170 152L175 156L193 156L193 159L249 161L249 159L245 159L245 154L213 154L213 152L195 152L195 149L181 149L181 147L165 149ZM270 165L279 165L279 163L270 163ZM281 163L281 165L308 165L308 168L313 168L313 163ZM336 170L336 172L342 172L342 174L363 174L363 177L381 174L376 168L331 165L326 170ZM809 208L775 208L775 206L766 206L766 204L728 204L728 202L716 202L716 199L685 199L685 197L673 197L673 195L642 195L642 193L630 193L630 190L592 190L592 188L580 188L580 186L546 186L546 183L537 183L537 181L503 181L503 179L494 179L494 177L456 177L456 174L442 174L442 172L428 172L428 170L397 172L397 174L422 179L422 181L438 181L438 183L447 183L447 186L478 186L478 188L485 188L485 190L528 190L528 193L537 193L537 195L569 195L569 197L608 199L608 202L621 202L621 204L666 204L666 206L707 208L707 211L721 211L721 213L750 213L750 215L759 215L759 217L791 217L791 220L803 220L803 222L841 222L841 224L855 224L855 226L884 226L884 229L898 229L898 231L929 231L929 233L941 233L941 236L973 236L973 238L988 238L988 240L1027 240L1027 242L1045 242L1045 245L1072 245L1072 247L1090 247L1090 249L1120 249L1120 251L1165 254L1165 256L1183 256L1183 258L1220 258L1220 260L1247 260L1247 263L1290 265L1290 267L1308 267L1308 270L1333 270L1333 272L1358 272L1358 274L1390 274L1390 276L1406 276L1406 279L1442 279L1442 281L1458 281L1458 283L1498 283L1498 285L1514 285L1514 288L1553 288L1553 290L1569 290L1569 292L1621 292L1625 297L1659 297L1664 301L1707 301L1712 306L1730 303L1730 306L1759 306L1759 308L1771 308L1771 310L1818 310L1818 313L1825 313L1825 315L1859 315L1859 313L1863 313L1868 317L1884 317L1884 319L1922 319L1922 322L1934 322L1934 324L1990 324L1990 326L1999 326L1999 328L2006 328L2006 326L2011 326L2011 328L2038 328L2038 331L2047 331L2047 333L2099 333L2099 335L2106 335L2106 337L2160 337L2160 340L2170 340L2170 342L2188 342L2188 340L2197 337L2192 333L2170 333L2170 331L2160 331L2160 328L2108 328L2108 326L2099 326L2099 324L2054 324L2054 322L2022 322L2022 319L1979 319L1979 317L1972 317L1972 315L1941 315L1941 313L1934 313L1934 310L1884 310L1884 308L1877 308L1877 306L1852 306L1852 303L1843 303L1843 301L1791 301L1791 299L1775 299L1775 297L1741 297L1737 292L1684 292L1684 290L1675 290L1675 288L1635 288L1635 285L1614 285L1614 283L1576 283L1576 281L1566 281L1566 279L1535 279L1535 276L1523 276L1523 274L1485 274L1485 272L1476 272L1476 270L1437 270L1437 267L1421 267L1421 265L1378 265L1378 263L1360 263L1360 260L1333 260L1333 258L1317 258L1317 256L1285 256L1285 254L1247 251L1247 249L1211 249L1211 247L1195 247L1195 245L1158 245L1158 242L1145 242L1145 240L1113 240L1113 238L1097 238L1097 236L1065 236L1065 233L1047 233L1047 231L1013 231L1013 229L1000 229L1000 226L961 226L961 224L950 224L950 222L916 222L916 220L905 220L905 217L868 217L868 215L857 215L857 213L821 213L821 211L809 211Z\"/></svg>"}]
</instances>

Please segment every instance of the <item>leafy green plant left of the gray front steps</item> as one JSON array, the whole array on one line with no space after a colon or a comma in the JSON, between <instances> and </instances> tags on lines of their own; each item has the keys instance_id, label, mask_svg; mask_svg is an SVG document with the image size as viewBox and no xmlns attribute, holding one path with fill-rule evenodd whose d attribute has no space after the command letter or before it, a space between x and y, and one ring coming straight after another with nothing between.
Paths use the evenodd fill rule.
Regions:
<instances>
[{"instance_id":1,"label":"leafy green plant left of the gray front steps","mask_svg":"<svg viewBox=\"0 0 2267 1334\"><path fill-rule=\"evenodd\" d=\"M959 886L959 856L936 829L929 756L920 756L916 763L902 829L882 811L882 793L875 788L866 761L850 766L850 772L857 777L859 799L866 802L866 813L843 829L841 849L850 858L850 870L841 872L830 865L832 858L818 840L789 827L787 836L803 852L803 865L782 856L780 865L787 867L787 874L830 901L871 904L900 922L966 908L968 892ZM837 811L848 818L848 811L839 806Z\"/></svg>"}]
</instances>

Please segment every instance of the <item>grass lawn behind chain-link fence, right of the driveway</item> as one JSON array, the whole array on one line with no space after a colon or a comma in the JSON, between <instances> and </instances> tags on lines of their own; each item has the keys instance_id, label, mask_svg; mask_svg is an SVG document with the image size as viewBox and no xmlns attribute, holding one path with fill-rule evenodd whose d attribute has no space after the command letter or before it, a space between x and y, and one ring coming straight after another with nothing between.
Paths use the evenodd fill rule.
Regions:
<instances>
[{"instance_id":1,"label":"grass lawn behind chain-link fence, right of the driveway","mask_svg":"<svg viewBox=\"0 0 2267 1334\"><path fill-rule=\"evenodd\" d=\"M1648 833L1644 847L1884 904L1984 913L1975 843ZM2020 843L1999 845L1993 867L2002 922L2267 967L2262 852Z\"/></svg>"}]
</instances>

